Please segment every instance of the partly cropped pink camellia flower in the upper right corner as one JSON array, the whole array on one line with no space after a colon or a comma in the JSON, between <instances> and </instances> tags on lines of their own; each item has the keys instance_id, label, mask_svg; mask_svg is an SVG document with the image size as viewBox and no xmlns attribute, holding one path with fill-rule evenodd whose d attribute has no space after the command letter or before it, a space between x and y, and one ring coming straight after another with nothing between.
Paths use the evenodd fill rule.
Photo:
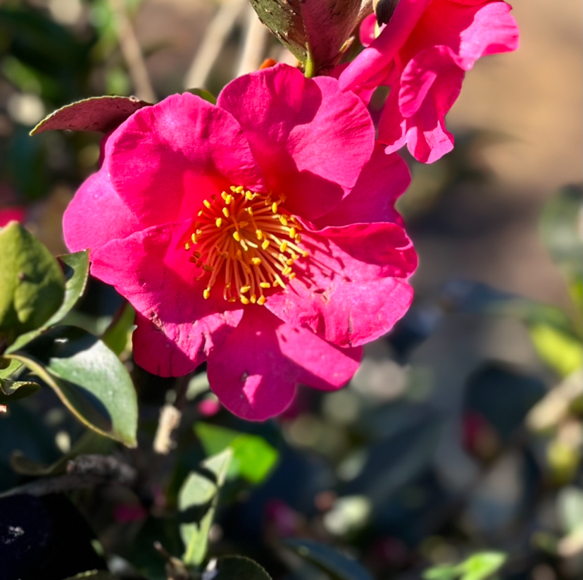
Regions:
<instances>
[{"instance_id":1,"label":"partly cropped pink camellia flower in the upper right corner","mask_svg":"<svg viewBox=\"0 0 583 580\"><path fill-rule=\"evenodd\" d=\"M466 70L481 56L518 48L518 27L501 0L401 0L374 38L375 16L363 22L366 48L340 75L358 94L388 85L379 125L387 152L407 144L432 163L453 149L445 115L460 94Z\"/></svg>"}]
</instances>

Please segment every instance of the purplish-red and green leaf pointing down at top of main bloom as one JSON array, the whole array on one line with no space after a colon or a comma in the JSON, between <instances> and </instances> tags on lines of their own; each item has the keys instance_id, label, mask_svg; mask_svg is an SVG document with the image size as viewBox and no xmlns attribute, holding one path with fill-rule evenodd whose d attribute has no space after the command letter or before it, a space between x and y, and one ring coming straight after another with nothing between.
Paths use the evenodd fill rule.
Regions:
<instances>
[{"instance_id":1,"label":"purplish-red and green leaf pointing down at top of main bloom","mask_svg":"<svg viewBox=\"0 0 583 580\"><path fill-rule=\"evenodd\" d=\"M372 12L370 0L251 0L251 5L306 73L333 66L352 32Z\"/></svg>"}]
</instances>

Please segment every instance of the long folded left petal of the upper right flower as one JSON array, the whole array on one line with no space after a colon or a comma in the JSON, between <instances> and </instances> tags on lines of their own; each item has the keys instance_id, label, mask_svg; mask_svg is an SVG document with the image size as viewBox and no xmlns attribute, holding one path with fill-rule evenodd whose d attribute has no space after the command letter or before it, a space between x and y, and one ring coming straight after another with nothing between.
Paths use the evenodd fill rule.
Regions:
<instances>
[{"instance_id":1,"label":"long folded left petal of the upper right flower","mask_svg":"<svg viewBox=\"0 0 583 580\"><path fill-rule=\"evenodd\" d=\"M340 86L353 89L391 65L431 0L401 0L379 37L361 52L340 76Z\"/></svg>"}]
</instances>

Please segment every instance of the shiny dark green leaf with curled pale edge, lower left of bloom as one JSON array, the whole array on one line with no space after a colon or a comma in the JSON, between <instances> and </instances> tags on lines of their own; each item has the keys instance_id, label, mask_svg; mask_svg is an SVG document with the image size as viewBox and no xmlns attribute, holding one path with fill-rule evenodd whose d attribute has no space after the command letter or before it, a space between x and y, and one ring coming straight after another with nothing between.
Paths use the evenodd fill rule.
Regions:
<instances>
[{"instance_id":1,"label":"shiny dark green leaf with curled pale edge, lower left of bloom","mask_svg":"<svg viewBox=\"0 0 583 580\"><path fill-rule=\"evenodd\" d=\"M56 326L8 349L54 389L83 424L129 447L136 445L137 398L125 366L101 340L75 326Z\"/></svg>"}]
</instances>

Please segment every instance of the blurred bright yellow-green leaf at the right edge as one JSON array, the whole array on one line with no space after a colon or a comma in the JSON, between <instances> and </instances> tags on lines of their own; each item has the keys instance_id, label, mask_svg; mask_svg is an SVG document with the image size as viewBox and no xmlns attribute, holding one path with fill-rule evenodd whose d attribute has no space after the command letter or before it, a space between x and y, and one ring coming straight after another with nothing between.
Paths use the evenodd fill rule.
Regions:
<instances>
[{"instance_id":1,"label":"blurred bright yellow-green leaf at the right edge","mask_svg":"<svg viewBox=\"0 0 583 580\"><path fill-rule=\"evenodd\" d=\"M542 361L560 376L568 376L583 364L583 345L572 335L548 324L532 324L532 343Z\"/></svg>"}]
</instances>

